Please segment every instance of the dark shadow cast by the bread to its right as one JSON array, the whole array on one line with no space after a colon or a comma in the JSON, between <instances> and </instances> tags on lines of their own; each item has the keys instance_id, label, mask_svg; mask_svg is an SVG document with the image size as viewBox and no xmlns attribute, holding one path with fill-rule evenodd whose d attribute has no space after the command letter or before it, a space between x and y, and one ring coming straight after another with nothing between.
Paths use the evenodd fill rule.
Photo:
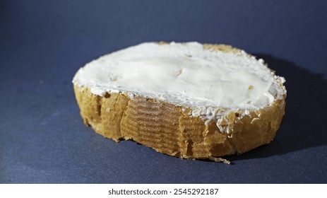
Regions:
<instances>
[{"instance_id":1,"label":"dark shadow cast by the bread to its right","mask_svg":"<svg viewBox=\"0 0 327 198\"><path fill-rule=\"evenodd\" d=\"M266 158L305 148L327 145L326 103L327 82L322 74L311 74L292 62L267 54L254 54L268 63L276 75L284 76L287 89L285 117L274 141L266 146L229 156L230 161Z\"/></svg>"}]
</instances>

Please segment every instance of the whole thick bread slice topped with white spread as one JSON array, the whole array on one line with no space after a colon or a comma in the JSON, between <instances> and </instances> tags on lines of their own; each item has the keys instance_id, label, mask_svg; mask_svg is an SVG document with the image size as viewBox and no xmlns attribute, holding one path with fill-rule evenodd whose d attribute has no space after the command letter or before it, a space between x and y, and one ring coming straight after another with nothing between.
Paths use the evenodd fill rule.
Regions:
<instances>
[{"instance_id":1,"label":"whole thick bread slice topped with white spread","mask_svg":"<svg viewBox=\"0 0 327 198\"><path fill-rule=\"evenodd\" d=\"M273 140L284 82L230 45L148 42L86 64L73 88L85 124L102 136L220 161Z\"/></svg>"}]
</instances>

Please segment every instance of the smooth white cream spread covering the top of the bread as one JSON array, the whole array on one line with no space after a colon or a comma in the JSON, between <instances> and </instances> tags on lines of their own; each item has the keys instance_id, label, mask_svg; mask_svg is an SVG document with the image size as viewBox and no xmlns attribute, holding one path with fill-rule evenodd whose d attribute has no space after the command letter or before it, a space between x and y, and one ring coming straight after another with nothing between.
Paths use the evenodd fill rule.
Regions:
<instances>
[{"instance_id":1,"label":"smooth white cream spread covering the top of the bread","mask_svg":"<svg viewBox=\"0 0 327 198\"><path fill-rule=\"evenodd\" d=\"M258 109L282 99L285 79L244 51L222 52L198 42L147 42L107 54L79 69L73 83L97 95L125 92L191 108L219 120L220 107Z\"/></svg>"}]
</instances>

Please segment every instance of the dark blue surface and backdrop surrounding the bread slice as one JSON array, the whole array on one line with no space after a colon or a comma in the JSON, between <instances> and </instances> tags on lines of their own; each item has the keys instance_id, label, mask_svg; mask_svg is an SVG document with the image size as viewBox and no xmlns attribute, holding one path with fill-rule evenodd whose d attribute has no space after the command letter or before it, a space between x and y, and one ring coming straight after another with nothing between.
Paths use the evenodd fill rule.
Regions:
<instances>
[{"instance_id":1,"label":"dark blue surface and backdrop surrounding the bread slice","mask_svg":"<svg viewBox=\"0 0 327 198\"><path fill-rule=\"evenodd\" d=\"M0 182L327 182L326 1L0 1ZM85 127L75 72L146 41L226 43L287 82L268 146L181 160Z\"/></svg>"}]
</instances>

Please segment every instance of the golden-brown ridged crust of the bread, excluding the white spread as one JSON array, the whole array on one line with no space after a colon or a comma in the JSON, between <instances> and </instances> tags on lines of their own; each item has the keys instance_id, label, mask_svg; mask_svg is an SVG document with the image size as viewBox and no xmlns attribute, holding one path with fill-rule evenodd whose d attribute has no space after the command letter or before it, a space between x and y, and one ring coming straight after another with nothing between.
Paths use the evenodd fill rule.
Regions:
<instances>
[{"instance_id":1,"label":"golden-brown ridged crust of the bread, excluding the white spread","mask_svg":"<svg viewBox=\"0 0 327 198\"><path fill-rule=\"evenodd\" d=\"M164 44L163 42L160 44ZM212 50L239 52L229 45L204 45ZM250 56L250 55L249 55ZM280 84L280 86L283 86ZM226 116L229 133L220 132L216 121L205 124L191 109L127 93L104 96L74 84L74 92L85 124L114 141L133 139L155 151L181 158L217 160L220 156L244 153L268 144L275 137L285 113L285 98L259 110L230 110ZM240 116L244 115L244 116Z\"/></svg>"}]
</instances>

